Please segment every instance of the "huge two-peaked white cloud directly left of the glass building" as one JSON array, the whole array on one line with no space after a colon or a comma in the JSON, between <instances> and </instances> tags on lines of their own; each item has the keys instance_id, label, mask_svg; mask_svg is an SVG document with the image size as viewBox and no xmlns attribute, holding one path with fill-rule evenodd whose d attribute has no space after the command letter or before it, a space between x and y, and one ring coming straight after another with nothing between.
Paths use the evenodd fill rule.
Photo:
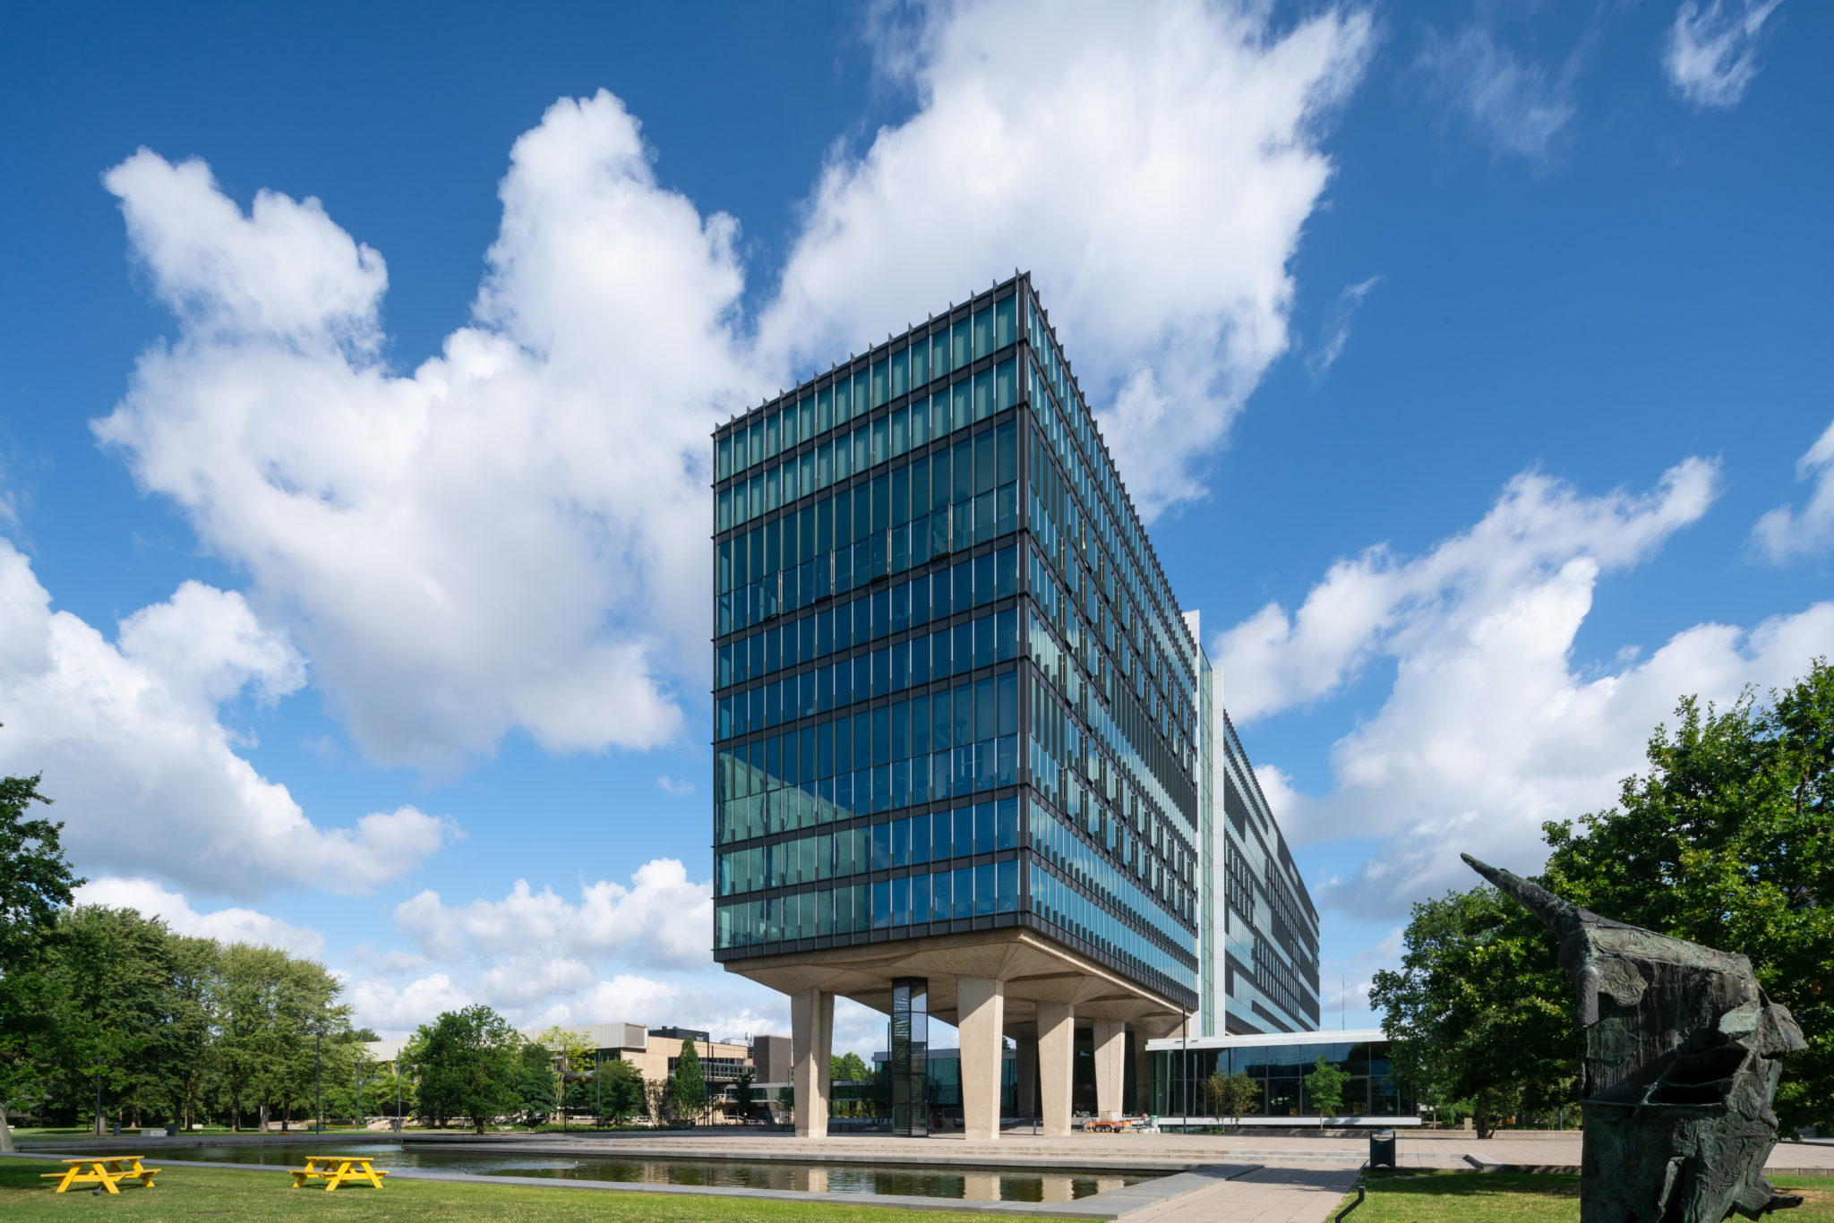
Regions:
<instances>
[{"instance_id":1,"label":"huge two-peaked white cloud directly left of the glass building","mask_svg":"<svg viewBox=\"0 0 1834 1223\"><path fill-rule=\"evenodd\" d=\"M95 422L284 620L352 737L449 768L512 726L649 746L706 666L706 435L761 380L734 224L651 174L609 94L512 150L475 323L380 361L378 253L315 200L244 215L198 163L106 176L176 341Z\"/></svg>"}]
</instances>

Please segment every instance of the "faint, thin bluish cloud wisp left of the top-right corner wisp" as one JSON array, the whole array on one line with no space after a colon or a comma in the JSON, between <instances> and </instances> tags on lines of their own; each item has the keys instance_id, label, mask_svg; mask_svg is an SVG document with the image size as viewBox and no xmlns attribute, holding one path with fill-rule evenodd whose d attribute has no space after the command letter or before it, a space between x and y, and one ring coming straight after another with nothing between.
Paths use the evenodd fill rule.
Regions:
<instances>
[{"instance_id":1,"label":"faint, thin bluish cloud wisp left of the top-right corner wisp","mask_svg":"<svg viewBox=\"0 0 1834 1223\"><path fill-rule=\"evenodd\" d=\"M1471 24L1454 35L1429 31L1418 64L1491 149L1537 165L1552 160L1579 110L1577 53L1553 73L1504 46L1489 24Z\"/></svg>"}]
</instances>

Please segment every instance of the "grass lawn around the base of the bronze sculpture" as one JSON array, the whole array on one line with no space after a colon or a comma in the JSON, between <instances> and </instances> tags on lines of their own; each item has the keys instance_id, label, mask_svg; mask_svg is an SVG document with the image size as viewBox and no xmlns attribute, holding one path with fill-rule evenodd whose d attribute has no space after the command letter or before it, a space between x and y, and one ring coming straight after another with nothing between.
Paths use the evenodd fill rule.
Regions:
<instances>
[{"instance_id":1,"label":"grass lawn around the base of the bronze sculpture","mask_svg":"<svg viewBox=\"0 0 1834 1223\"><path fill-rule=\"evenodd\" d=\"M1579 1177L1515 1172L1374 1175L1368 1199L1344 1223L1577 1223ZM1777 1188L1805 1197L1788 1223L1834 1223L1834 1177L1783 1177ZM1344 1197L1331 1210L1357 1199Z\"/></svg>"}]
</instances>

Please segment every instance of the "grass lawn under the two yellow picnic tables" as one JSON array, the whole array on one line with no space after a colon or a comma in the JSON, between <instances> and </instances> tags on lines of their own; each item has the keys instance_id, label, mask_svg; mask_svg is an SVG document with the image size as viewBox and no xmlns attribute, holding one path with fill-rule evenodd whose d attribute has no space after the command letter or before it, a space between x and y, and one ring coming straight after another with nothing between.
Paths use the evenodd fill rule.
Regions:
<instances>
[{"instance_id":1,"label":"grass lawn under the two yellow picnic tables","mask_svg":"<svg viewBox=\"0 0 1834 1223\"><path fill-rule=\"evenodd\" d=\"M158 1161L149 1159L149 1166ZM381 1192L369 1186L343 1186L336 1194L319 1188L293 1190L292 1177L277 1172L240 1172L229 1168L167 1168L158 1188L128 1184L119 1197L95 1197L88 1190L51 1192L53 1181L40 1172L61 1172L61 1164L0 1161L0 1219L37 1223L39 1219L94 1217L106 1210L116 1219L416 1219L528 1221L536 1223L911 1223L904 1210L884 1206L805 1205L800 1201L754 1201L746 1197L702 1197L701 1194L609 1194L569 1188L532 1188L525 1184L453 1184L447 1181L394 1181ZM1357 1212L1361 1214L1361 1210ZM923 1223L987 1223L985 1216L924 1212ZM1067 1221L1066 1221L1067 1223Z\"/></svg>"}]
</instances>

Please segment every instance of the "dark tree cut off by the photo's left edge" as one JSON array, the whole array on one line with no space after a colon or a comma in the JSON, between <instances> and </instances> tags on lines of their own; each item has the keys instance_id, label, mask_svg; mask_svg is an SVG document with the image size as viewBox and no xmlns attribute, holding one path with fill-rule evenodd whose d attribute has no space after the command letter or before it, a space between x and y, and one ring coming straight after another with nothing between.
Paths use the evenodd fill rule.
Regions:
<instances>
[{"instance_id":1,"label":"dark tree cut off by the photo's left edge","mask_svg":"<svg viewBox=\"0 0 1834 1223\"><path fill-rule=\"evenodd\" d=\"M44 941L84 882L64 860L64 825L26 818L33 803L51 803L39 792L40 776L0 777L0 1151L13 1150L7 1104L42 1096L50 1085L61 1041L51 983L40 972Z\"/></svg>"}]
</instances>

